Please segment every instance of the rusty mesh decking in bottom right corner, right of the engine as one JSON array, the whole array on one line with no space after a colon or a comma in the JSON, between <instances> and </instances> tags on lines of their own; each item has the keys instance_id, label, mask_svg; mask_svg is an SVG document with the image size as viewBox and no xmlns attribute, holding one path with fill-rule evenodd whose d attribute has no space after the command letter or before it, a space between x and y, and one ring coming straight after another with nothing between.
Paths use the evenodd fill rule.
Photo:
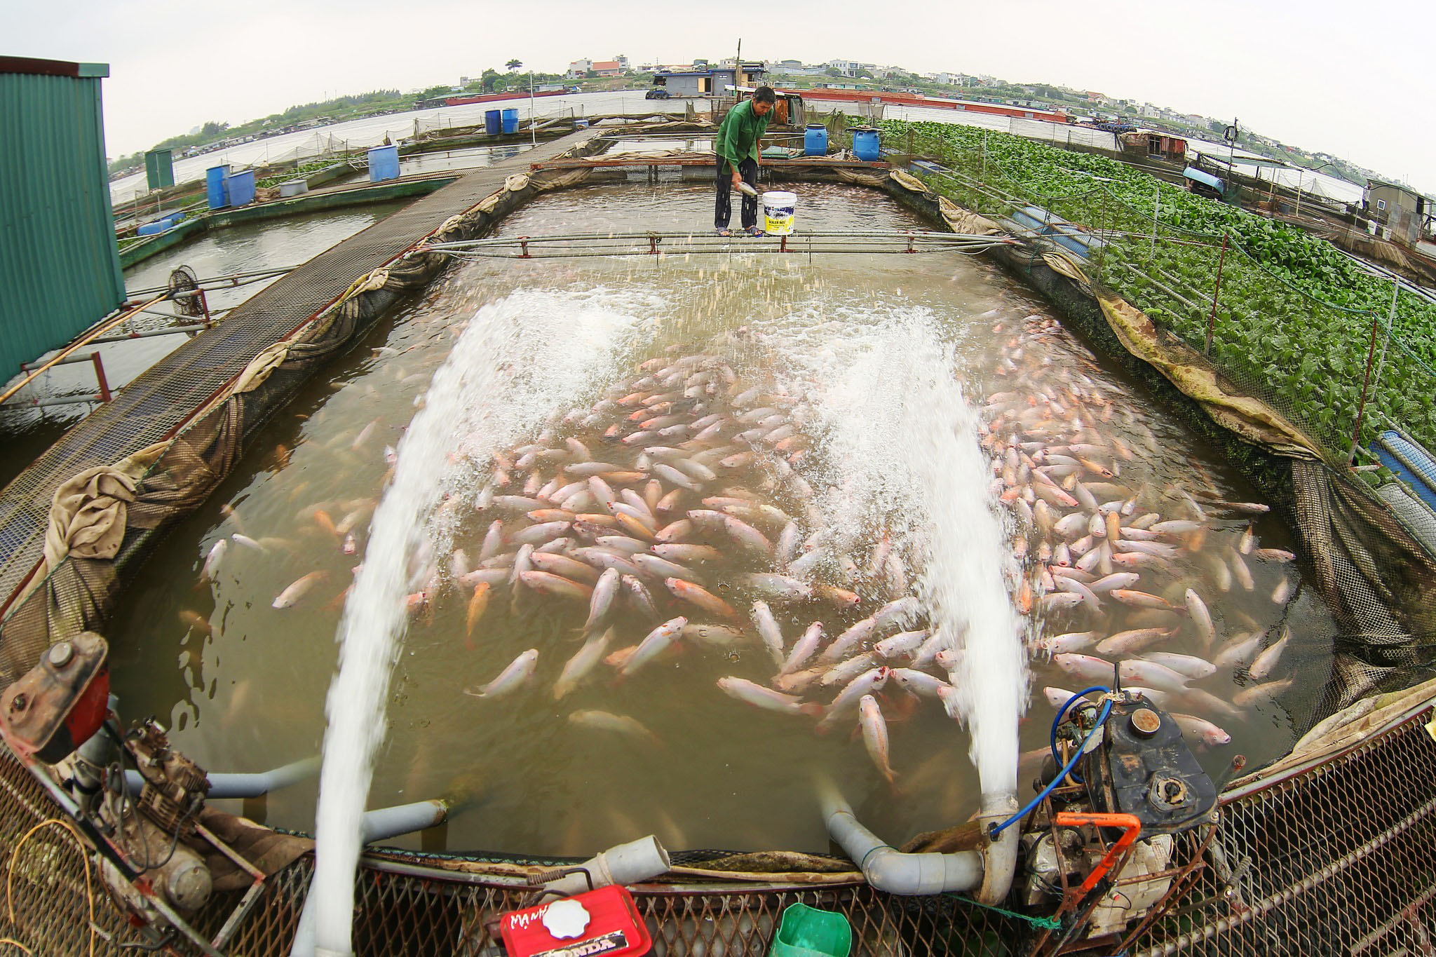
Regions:
<instances>
[{"instance_id":1,"label":"rusty mesh decking in bottom right corner, right of the engine","mask_svg":"<svg viewBox=\"0 0 1436 957\"><path fill-rule=\"evenodd\" d=\"M1129 953L1430 953L1436 742L1430 710L1300 776L1228 801L1211 867ZM1185 839L1190 854L1195 839ZM1403 941L1426 940L1403 951Z\"/></svg>"}]
</instances>

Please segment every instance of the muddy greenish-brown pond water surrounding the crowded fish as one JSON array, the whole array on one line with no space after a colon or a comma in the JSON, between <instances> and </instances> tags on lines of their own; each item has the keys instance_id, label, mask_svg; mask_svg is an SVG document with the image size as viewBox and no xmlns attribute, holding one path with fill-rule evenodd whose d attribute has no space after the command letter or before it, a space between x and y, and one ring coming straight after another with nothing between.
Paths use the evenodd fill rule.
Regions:
<instances>
[{"instance_id":1,"label":"muddy greenish-brown pond water surrounding the crowded fish","mask_svg":"<svg viewBox=\"0 0 1436 957\"><path fill-rule=\"evenodd\" d=\"M798 192L800 230L922 227L867 191L803 187ZM707 185L612 185L556 194L508 220L504 231L537 235L646 227L708 230ZM157 550L112 628L115 686L123 715L168 719L178 745L213 769L257 770L317 753L342 595L353 567L366 558L369 511L391 468L386 448L398 446L431 376L467 324L498 321L500 314L531 330L508 367L514 389L503 390L527 396L526 407L480 400L482 407L470 415L503 426L488 428L485 435L510 438L498 448L474 448L464 445L471 432L462 430L454 436L451 465L434 476L448 498L441 499L447 504L426 525L434 542L432 570L422 561L414 568L414 591L426 595L414 600L415 611L401 641L386 703L388 736L369 799L370 806L437 795L462 802L447 829L449 848L582 854L653 831L675 848L824 849L827 841L813 802L816 773L841 782L864 821L895 842L961 821L976 806L968 730L948 716L942 700L912 697L892 677L877 689L875 700L887 725L899 796L864 748L856 710L830 722L827 733L817 733L811 715L752 707L718 687L718 680L727 677L767 684L778 670L748 623L757 595L751 581L740 575L775 571L780 562L761 550L744 550L728 531L695 531L688 541L709 545L718 555L691 564L698 565L692 568L695 584L734 607L740 618L728 620L721 610L671 594L663 577L646 584L659 618L686 614L695 623L728 624L747 633L732 643L701 636L679 640L629 676L600 663L584 682L556 699L554 683L582 647L589 614L584 600L495 581L471 627L472 591L457 581L455 572L462 574L462 568L454 568L452 550L462 548L464 564L477 568L495 518L504 521L510 537L533 521L523 512L504 512L491 501L485 504L490 511L480 509L482 489L495 479L495 463L517 488L495 486L491 494L524 495L528 475L547 484L563 465L559 458L538 469L528 463L528 475L520 476L517 461L527 453L520 452L524 446L564 449L569 446L563 439L574 438L592 449L592 458L607 461L600 449L609 448L602 435L609 423L584 420L589 415L607 416L610 409L600 413L596 406L625 397L610 392L640 382L648 374L643 363L653 369L655 362L662 366L705 356L699 362L707 364L698 372L722 376L721 369L731 369L735 383L709 399L717 405L705 415L745 415L735 403L738 387L757 387L760 396L777 400L771 415L783 419L768 425L763 436L752 436L754 442L768 442L763 456L715 469L722 475L702 495L734 489L755 495L763 505L793 517L804 544L816 531L826 532L811 542L823 552L811 571L794 577L853 591L860 603L850 608L841 597L794 603L770 598L785 651L813 621L823 621L824 631L833 636L909 591L961 613L968 583L952 585L929 574L935 555L945 555L939 568L961 567L952 552L962 550L941 548L945 541L964 541L961 522L954 524L945 498L922 489L915 494L913 488L920 482L945 488L941 468L932 465L945 459L932 456L933 443L925 438L923 423L932 433L945 430L969 446L982 443L982 462L997 461L987 469L991 501L997 505L1004 495L1010 499L997 505L1007 544L991 564L1005 577L1014 607L1030 607L1011 641L1032 646L1032 673L1004 669L988 674L971 660L965 663L964 656L946 656L942 663L954 666L952 677L968 699L975 682L997 682L1014 699L1025 694L1030 683L1031 720L1021 726L1018 748L1031 752L1043 746L1051 709L1040 689L1077 690L1107 682L1071 679L1047 661L1035 643L1088 630L1101 633L1093 640L1104 640L1136 628L1143 621L1137 616L1156 614L1107 598L1099 598L1099 613L1068 605L1066 598L1044 597L1057 584L1055 578L1044 580L1051 574L1044 572L1048 564L1038 561L1044 542L1053 547L1061 538L1070 554L1081 537L1067 539L1038 531L1035 524L1027 524L1018 502L1032 508L1024 489L1034 482L1034 468L1058 472L1058 485L1074 472L1067 472L1060 459L1028 463L1021 456L1060 456L1064 452L1050 449L1099 445L1084 432L1096 429L1107 436L1100 442L1106 452L1081 449L1083 458L1100 455L1103 462L1094 465L1120 472L1103 479L1120 486L1120 492L1099 491L1126 492L1122 501L1137 499L1127 515L1122 515L1120 502L1114 506L1122 515L1119 525L1159 512L1163 521L1200 521L1206 528L1199 542L1193 531L1157 541L1180 554L1166 560L1169 568L1137 568L1143 578L1124 591L1143 590L1183 610L1185 590L1198 591L1215 623L1213 649L1246 631L1258 634L1259 647L1277 640L1285 623L1305 656L1288 651L1271 666L1269 677L1288 677L1292 661L1302 661L1317 671L1313 682L1324 680L1321 664L1311 664L1320 661L1311 649L1324 647L1333 631L1324 610L1292 567L1275 558L1251 558L1261 548L1290 547L1282 529L1269 519L1235 512L1235 506L1212 505L1249 502L1254 492L999 273L979 260L951 254L827 255L808 261L806 255L742 253L742 241L732 248L727 255L659 261L484 260L451 270L421 301L336 363L332 380L312 383L267 426L241 469ZM579 323L584 324L582 330ZM596 350L586 339L584 333L596 329L613 337L609 347ZM580 350L590 350L595 359L564 362L590 354ZM566 376L561 385L544 379L556 369ZM935 392L933 383L943 382L946 392ZM964 419L961 409L943 407L942 402L955 402L951 383L958 385L976 422ZM1005 395L1014 392L1020 399ZM935 395L946 397L933 400ZM1061 412L1047 407L1037 415L1007 407L1018 400L1028 409L1037 402L1055 403ZM1093 419L1090 426L1086 418L1071 418L1070 409L1078 406L1083 416ZM564 423L570 413L573 418ZM686 415L689 422L702 418L694 407L668 415ZM1002 428L1004 416L1015 416L1022 432L1010 476L1004 475L1005 448L992 438L1007 442L1012 433ZM622 420L628 422L626 416ZM787 425L793 436L780 432L784 438L767 439ZM1041 429L1047 432L1031 435ZM735 440L731 432L724 435L725 443ZM1113 435L1133 451L1130 459L1116 452ZM794 436L785 448L775 448ZM1024 448L1024 442L1041 448ZM615 462L623 466L617 471L636 471L630 466L640 465L639 451L623 443L615 448L623 453L623 461ZM513 468L505 468L505 461ZM642 495L648 479L656 478L668 482L665 494L672 491L672 478L653 469L656 461L649 456L652 473L642 482L625 486L632 476L610 476L610 488ZM1080 473L1076 481L1086 486L1094 479ZM1203 518L1196 518L1180 492L1169 491L1176 488L1189 489L1196 508L1208 504ZM541 484L536 482L533 491L541 491ZM686 489L682 494L698 495ZM1035 492L1032 498L1038 498ZM685 504L702 508L695 501ZM1057 506L1050 508L1058 521ZM775 522L764 525L761 517L752 521L770 542L781 538ZM1242 537L1254 522L1248 547ZM234 539L236 534L244 538ZM343 548L348 534L355 535L352 555ZM935 542L935 537L945 538ZM227 544L214 580L200 584L204 557L221 538ZM1119 535L1119 541L1124 539ZM875 562L879 552L885 557ZM1221 557L1229 570L1232 552L1248 565L1251 591L1239 583L1228 584L1226 591L1219 587L1228 575L1218 574L1208 555ZM304 575L312 575L310 585L292 607L271 607ZM1272 601L1282 581L1288 583L1288 595ZM938 595L943 585L952 587ZM931 607L925 605L906 627L932 624ZM1163 637L1165 647L1147 651L1206 651L1215 657L1189 618L1166 614L1170 618L1160 626L1175 630ZM605 653L639 643L653 624L636 607L620 604L605 623L605 630L613 628ZM896 630L899 626L892 626L879 634L887 637ZM966 640L965 634L954 636L956 646ZM864 647L859 644L857 650ZM521 687L497 699L464 693L493 682L528 649L538 651L537 666ZM1091 649L1083 653L1096 654ZM899 654L886 664L910 663ZM922 670L936 679L946 676L938 663L925 663ZM1248 677L1248 664L1236 661L1190 682L1192 689L1206 692L1225 707L1195 694L1172 703L1173 710L1206 717L1231 735L1228 745L1200 745L1213 770L1219 772L1238 749L1259 762L1290 746L1282 697L1231 704L1251 684L1258 682ZM798 707L827 704L834 693L834 687L820 686L800 692ZM1199 713L1196 704L1203 703L1209 710ZM954 710L962 709L954 704ZM584 712L605 712L636 725ZM574 713L580 717L574 719ZM1024 781L1030 778L1030 769L1024 766L1022 775ZM1028 793L1025 785L1021 793ZM312 826L314 785L271 796L267 811L271 824Z\"/></svg>"}]
</instances>

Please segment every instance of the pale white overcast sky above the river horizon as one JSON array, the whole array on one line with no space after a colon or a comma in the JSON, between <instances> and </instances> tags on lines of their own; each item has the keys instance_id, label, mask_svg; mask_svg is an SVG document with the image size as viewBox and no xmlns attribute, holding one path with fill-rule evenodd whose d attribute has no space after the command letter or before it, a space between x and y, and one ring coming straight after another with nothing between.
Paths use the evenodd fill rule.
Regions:
<instances>
[{"instance_id":1,"label":"pale white overcast sky above the river horizon","mask_svg":"<svg viewBox=\"0 0 1436 957\"><path fill-rule=\"evenodd\" d=\"M0 53L111 65L106 149L152 146L215 119L240 123L326 95L411 89L579 57L635 63L731 56L853 59L989 73L1241 119L1436 192L1436 6L1271 0L1005 0L856 4L788 0L0 0Z\"/></svg>"}]
</instances>

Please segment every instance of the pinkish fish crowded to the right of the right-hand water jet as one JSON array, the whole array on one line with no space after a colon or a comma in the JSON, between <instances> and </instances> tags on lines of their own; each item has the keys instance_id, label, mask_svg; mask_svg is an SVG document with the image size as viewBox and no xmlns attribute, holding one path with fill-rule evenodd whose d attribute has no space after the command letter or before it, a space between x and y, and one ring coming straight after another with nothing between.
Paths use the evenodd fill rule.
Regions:
<instances>
[{"instance_id":1,"label":"pinkish fish crowded to the right of the right-hand water jet","mask_svg":"<svg viewBox=\"0 0 1436 957\"><path fill-rule=\"evenodd\" d=\"M1228 743L1222 722L1294 682L1281 676L1284 611L1300 580L1292 552L1258 544L1268 506L1223 499L1196 461L1190 486L1156 485L1144 459L1170 452L1146 406L1087 354L1034 347L1066 336L1055 320L992 333L1005 340L998 377L1014 387L987 397L982 445L1022 560L1014 601L1041 623L1030 641L1044 696L1061 707L1070 687L1120 674L1192 739Z\"/></svg>"}]
</instances>

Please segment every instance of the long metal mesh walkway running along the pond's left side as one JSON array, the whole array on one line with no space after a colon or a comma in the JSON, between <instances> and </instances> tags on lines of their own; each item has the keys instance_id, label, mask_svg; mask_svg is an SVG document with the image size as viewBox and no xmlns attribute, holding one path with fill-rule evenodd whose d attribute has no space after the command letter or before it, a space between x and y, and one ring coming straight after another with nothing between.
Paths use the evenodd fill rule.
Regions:
<instances>
[{"instance_id":1,"label":"long metal mesh walkway running along the pond's left side","mask_svg":"<svg viewBox=\"0 0 1436 957\"><path fill-rule=\"evenodd\" d=\"M551 159L589 135L580 131L475 169L320 253L237 307L221 326L161 359L113 402L66 432L0 492L0 601L9 600L40 560L50 496L60 482L164 439L261 349L329 306L353 280L503 187L505 176L526 172L531 162Z\"/></svg>"}]
</instances>

